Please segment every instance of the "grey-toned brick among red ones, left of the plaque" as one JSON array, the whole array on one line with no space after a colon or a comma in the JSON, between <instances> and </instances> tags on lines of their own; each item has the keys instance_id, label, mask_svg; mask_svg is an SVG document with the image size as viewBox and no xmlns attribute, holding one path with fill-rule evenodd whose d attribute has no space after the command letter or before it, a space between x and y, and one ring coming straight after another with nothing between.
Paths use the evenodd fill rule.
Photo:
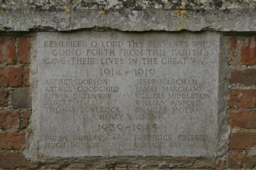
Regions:
<instances>
[{"instance_id":1,"label":"grey-toned brick among red ones, left of the plaque","mask_svg":"<svg viewBox=\"0 0 256 170\"><path fill-rule=\"evenodd\" d=\"M31 98L29 90L14 90L12 92L12 108L30 108Z\"/></svg>"}]
</instances>

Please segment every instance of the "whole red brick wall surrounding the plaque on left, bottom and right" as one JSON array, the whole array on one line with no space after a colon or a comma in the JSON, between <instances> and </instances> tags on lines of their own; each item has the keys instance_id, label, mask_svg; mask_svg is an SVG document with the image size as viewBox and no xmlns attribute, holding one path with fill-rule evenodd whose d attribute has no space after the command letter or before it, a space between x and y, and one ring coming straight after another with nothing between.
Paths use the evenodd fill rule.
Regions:
<instances>
[{"instance_id":1,"label":"whole red brick wall surrounding the plaque on left, bottom and right","mask_svg":"<svg viewBox=\"0 0 256 170\"><path fill-rule=\"evenodd\" d=\"M121 157L32 162L23 154L29 137L31 96L30 37L0 37L0 168L34 169L170 169L256 168L256 37L232 36L228 152L222 159L186 157Z\"/></svg>"}]
</instances>

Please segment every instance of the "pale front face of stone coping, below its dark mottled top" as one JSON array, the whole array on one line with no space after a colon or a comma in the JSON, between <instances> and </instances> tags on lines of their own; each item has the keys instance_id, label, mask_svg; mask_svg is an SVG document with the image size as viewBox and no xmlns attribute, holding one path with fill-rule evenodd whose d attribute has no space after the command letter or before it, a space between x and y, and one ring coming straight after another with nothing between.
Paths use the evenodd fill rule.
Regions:
<instances>
[{"instance_id":1,"label":"pale front face of stone coping, below its dark mottled top","mask_svg":"<svg viewBox=\"0 0 256 170\"><path fill-rule=\"evenodd\" d=\"M0 31L256 31L256 9L5 9Z\"/></svg>"}]
</instances>

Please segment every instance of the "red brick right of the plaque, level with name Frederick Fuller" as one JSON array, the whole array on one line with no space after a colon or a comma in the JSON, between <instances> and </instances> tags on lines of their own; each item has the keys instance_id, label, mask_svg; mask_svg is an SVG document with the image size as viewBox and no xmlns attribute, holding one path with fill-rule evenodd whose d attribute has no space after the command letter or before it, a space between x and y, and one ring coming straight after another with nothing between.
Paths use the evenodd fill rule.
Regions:
<instances>
[{"instance_id":1,"label":"red brick right of the plaque, level with name Frederick Fuller","mask_svg":"<svg viewBox=\"0 0 256 170\"><path fill-rule=\"evenodd\" d=\"M229 139L230 150L249 150L256 147L256 132L237 132Z\"/></svg>"}]
</instances>

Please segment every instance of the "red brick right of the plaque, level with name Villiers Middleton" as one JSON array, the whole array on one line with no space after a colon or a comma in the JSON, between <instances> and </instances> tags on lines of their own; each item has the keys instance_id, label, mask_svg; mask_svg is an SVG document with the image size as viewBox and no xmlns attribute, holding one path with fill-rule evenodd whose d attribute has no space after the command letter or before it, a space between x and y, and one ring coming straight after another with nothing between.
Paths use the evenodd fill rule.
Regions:
<instances>
[{"instance_id":1,"label":"red brick right of the plaque, level with name Villiers Middleton","mask_svg":"<svg viewBox=\"0 0 256 170\"><path fill-rule=\"evenodd\" d=\"M256 90L231 90L228 106L232 108L255 108Z\"/></svg>"}]
</instances>

